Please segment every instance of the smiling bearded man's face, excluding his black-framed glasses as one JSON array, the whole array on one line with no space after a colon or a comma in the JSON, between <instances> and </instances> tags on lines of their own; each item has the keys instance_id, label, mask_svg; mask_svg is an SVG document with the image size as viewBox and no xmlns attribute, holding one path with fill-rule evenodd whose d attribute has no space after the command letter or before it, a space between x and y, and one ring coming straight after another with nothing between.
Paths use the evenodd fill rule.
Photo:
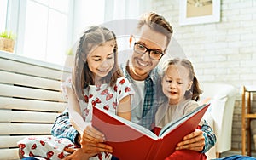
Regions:
<instances>
[{"instance_id":1,"label":"smiling bearded man's face, excluding his black-framed glasses","mask_svg":"<svg viewBox=\"0 0 256 160\"><path fill-rule=\"evenodd\" d=\"M160 52L164 52L166 49L167 37L159 32L151 30L146 25L141 28L141 31L135 35L133 40L148 49L155 49ZM134 41L132 42L133 44ZM148 77L148 73L158 65L159 61L160 60L150 59L148 52L145 54L137 54L137 52L133 51L129 64L131 77L136 80L144 80Z\"/></svg>"}]
</instances>

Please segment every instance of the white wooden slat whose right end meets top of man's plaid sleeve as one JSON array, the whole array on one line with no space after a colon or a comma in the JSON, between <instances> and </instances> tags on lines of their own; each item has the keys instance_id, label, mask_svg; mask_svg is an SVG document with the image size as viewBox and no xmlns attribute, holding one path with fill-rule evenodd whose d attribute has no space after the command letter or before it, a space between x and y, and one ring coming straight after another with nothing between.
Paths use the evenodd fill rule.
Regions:
<instances>
[{"instance_id":1,"label":"white wooden slat whose right end meets top of man's plaid sleeve","mask_svg":"<svg viewBox=\"0 0 256 160\"><path fill-rule=\"evenodd\" d=\"M0 110L0 115L0 122L4 123L54 123L59 113Z\"/></svg>"}]
</instances>

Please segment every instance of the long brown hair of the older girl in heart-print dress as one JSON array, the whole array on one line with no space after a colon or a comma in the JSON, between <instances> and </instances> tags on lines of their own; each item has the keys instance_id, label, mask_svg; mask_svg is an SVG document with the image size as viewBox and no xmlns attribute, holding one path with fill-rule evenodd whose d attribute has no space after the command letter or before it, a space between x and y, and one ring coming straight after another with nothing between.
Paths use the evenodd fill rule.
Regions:
<instances>
[{"instance_id":1,"label":"long brown hair of the older girl in heart-print dress","mask_svg":"<svg viewBox=\"0 0 256 160\"><path fill-rule=\"evenodd\" d=\"M84 31L83 36L80 37L72 74L73 89L79 100L84 100L82 89L95 84L95 77L87 63L88 54L90 54L92 49L111 41L114 47L114 65L108 75L102 77L102 83L108 83L110 86L113 86L117 78L122 76L122 72L118 66L118 46L113 31L109 31L108 28L104 26L90 26L87 31Z\"/></svg>"}]
</instances>

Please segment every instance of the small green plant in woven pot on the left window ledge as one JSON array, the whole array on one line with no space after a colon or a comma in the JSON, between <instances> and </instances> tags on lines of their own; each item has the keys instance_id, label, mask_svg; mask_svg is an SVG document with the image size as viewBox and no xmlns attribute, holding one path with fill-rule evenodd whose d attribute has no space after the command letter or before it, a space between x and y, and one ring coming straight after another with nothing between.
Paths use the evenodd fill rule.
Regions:
<instances>
[{"instance_id":1,"label":"small green plant in woven pot on the left window ledge","mask_svg":"<svg viewBox=\"0 0 256 160\"><path fill-rule=\"evenodd\" d=\"M3 31L0 33L0 50L14 52L15 35L12 31Z\"/></svg>"}]
</instances>

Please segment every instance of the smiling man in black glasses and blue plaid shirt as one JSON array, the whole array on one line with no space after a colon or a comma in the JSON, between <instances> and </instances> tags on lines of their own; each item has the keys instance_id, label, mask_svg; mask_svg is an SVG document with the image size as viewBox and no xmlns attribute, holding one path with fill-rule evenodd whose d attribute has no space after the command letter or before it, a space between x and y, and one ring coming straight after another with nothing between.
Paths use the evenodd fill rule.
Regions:
<instances>
[{"instance_id":1,"label":"smiling man in black glasses and blue plaid shirt","mask_svg":"<svg viewBox=\"0 0 256 160\"><path fill-rule=\"evenodd\" d=\"M136 94L131 97L131 121L139 123L147 129L154 127L154 114L157 106L154 100L157 98L157 85L160 79L160 70L157 65L164 54L172 37L172 26L164 17L148 13L145 14L137 24L135 35L131 35L130 43L133 47L133 54L125 66L122 66L125 77L129 79ZM67 111L57 117L52 128L52 134L57 137L68 138L76 144L80 144L80 135L73 129L69 122ZM76 150L68 158L86 157L100 151L109 151L111 146L90 141L83 142L83 152ZM216 137L212 129L204 123L202 129L185 136L183 141L177 144L177 150L189 149L192 151L206 152L214 146ZM71 150L67 150L72 152Z\"/></svg>"}]
</instances>

